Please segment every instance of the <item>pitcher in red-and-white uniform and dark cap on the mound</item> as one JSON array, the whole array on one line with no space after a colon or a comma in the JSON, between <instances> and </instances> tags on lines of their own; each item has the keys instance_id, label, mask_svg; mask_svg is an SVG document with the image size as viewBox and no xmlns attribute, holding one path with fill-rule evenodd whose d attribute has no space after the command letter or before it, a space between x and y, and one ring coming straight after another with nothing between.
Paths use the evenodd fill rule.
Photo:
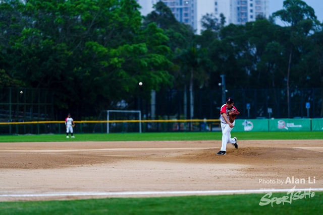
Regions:
<instances>
[{"instance_id":1,"label":"pitcher in red-and-white uniform and dark cap on the mound","mask_svg":"<svg viewBox=\"0 0 323 215\"><path fill-rule=\"evenodd\" d=\"M227 144L232 144L238 149L237 137L231 138L231 130L235 124L235 118L240 113L235 106L233 106L233 98L229 97L226 104L222 105L220 110L220 121L222 130L222 147L217 155L227 155Z\"/></svg>"}]
</instances>

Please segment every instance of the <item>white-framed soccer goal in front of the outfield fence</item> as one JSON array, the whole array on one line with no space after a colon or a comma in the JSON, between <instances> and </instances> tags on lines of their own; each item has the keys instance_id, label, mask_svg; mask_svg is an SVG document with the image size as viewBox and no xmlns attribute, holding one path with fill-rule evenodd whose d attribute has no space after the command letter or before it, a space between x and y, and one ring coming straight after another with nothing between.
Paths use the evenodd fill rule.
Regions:
<instances>
[{"instance_id":1,"label":"white-framed soccer goal in front of the outfield fence","mask_svg":"<svg viewBox=\"0 0 323 215\"><path fill-rule=\"evenodd\" d=\"M106 110L106 133L138 132L141 133L140 110ZM109 122L115 120L139 120L134 122Z\"/></svg>"}]
</instances>

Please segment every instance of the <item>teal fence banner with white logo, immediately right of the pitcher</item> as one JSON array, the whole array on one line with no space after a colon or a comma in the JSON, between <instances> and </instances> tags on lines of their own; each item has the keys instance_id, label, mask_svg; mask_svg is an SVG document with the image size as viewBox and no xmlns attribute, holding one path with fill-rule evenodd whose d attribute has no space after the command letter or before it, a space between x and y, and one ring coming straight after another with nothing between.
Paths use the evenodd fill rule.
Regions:
<instances>
[{"instance_id":1,"label":"teal fence banner with white logo, immediately right of the pitcher","mask_svg":"<svg viewBox=\"0 0 323 215\"><path fill-rule=\"evenodd\" d=\"M268 119L236 119L234 131L268 131Z\"/></svg>"}]
</instances>

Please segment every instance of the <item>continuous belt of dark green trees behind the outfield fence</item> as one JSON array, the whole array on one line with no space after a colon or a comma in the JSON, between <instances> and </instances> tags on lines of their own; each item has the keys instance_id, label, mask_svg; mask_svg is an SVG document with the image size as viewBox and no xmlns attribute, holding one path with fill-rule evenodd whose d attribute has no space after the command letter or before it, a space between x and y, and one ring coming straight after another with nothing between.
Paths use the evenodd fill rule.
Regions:
<instances>
[{"instance_id":1,"label":"continuous belt of dark green trees behind the outfield fence","mask_svg":"<svg viewBox=\"0 0 323 215\"><path fill-rule=\"evenodd\" d=\"M323 33L306 3L282 7L245 25L206 14L196 35L163 2L142 17L134 0L1 1L0 88L49 88L56 109L81 115L151 90L219 89L220 75L228 89L287 88L289 101L290 88L323 89Z\"/></svg>"}]
</instances>

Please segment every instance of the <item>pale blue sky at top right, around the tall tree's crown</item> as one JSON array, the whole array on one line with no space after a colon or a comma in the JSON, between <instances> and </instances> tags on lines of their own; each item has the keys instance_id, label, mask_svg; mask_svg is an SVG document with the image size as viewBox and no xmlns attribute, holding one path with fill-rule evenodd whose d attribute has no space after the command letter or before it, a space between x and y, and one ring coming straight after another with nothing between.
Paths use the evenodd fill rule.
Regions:
<instances>
[{"instance_id":1,"label":"pale blue sky at top right, around the tall tree's crown","mask_svg":"<svg viewBox=\"0 0 323 215\"><path fill-rule=\"evenodd\" d=\"M323 0L302 0L308 6L314 9L318 21L323 22ZM269 13L272 15L274 12L283 9L284 0L269 0ZM276 21L277 24L283 25Z\"/></svg>"}]
</instances>

